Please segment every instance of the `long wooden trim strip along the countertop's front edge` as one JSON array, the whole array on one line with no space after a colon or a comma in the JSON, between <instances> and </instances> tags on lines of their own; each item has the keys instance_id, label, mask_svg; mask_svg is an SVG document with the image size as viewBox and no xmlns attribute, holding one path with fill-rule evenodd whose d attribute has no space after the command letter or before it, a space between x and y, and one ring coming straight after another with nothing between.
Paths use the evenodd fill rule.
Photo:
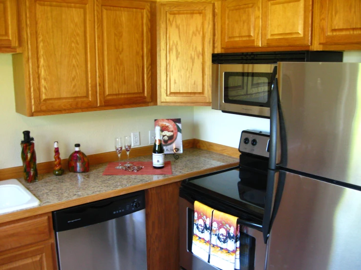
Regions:
<instances>
[{"instance_id":1,"label":"long wooden trim strip along the countertop's front edge","mask_svg":"<svg viewBox=\"0 0 361 270\"><path fill-rule=\"evenodd\" d=\"M215 171L231 168L231 167L234 167L237 165L238 165L238 162L224 164L221 166L212 167L212 168L208 168L208 169L204 169L204 170L200 170L200 171L196 171L196 172L191 172L191 173L181 174L181 175L176 175L176 176L170 176L165 179L160 179L160 180L156 180L156 181L152 181L152 182L148 182L148 183L134 185L134 186L122 188L119 190L112 190L112 191L99 193L99 194L93 194L93 195L76 198L76 199L72 199L72 200L68 200L68 201L64 201L64 202L49 204L49 205L45 205L45 206L39 206L39 207L35 207L35 208L30 208L30 209L24 209L19 212L11 212L8 214L1 214L0 215L0 223L12 221L12 220L16 220L16 219L20 219L20 218L24 218L24 217L29 217L29 216L33 216L33 215L38 215L38 214L42 214L42 213L52 212L52 211L56 211L59 209L64 209L64 208L80 205L80 204L103 200L106 198L119 196L119 195L131 193L131 192L154 188L157 186L162 186L165 184L178 182L178 181L181 181L181 180L189 178L189 177L193 177L193 176L197 176L197 175L201 175L201 174L208 174L208 173L212 173Z\"/></svg>"}]
</instances>

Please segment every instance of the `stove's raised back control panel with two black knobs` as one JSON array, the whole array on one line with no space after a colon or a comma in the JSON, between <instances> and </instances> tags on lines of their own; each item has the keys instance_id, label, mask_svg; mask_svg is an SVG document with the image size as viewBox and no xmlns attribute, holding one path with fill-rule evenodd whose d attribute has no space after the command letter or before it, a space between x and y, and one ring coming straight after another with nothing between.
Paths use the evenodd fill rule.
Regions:
<instances>
[{"instance_id":1,"label":"stove's raised back control panel with two black knobs","mask_svg":"<svg viewBox=\"0 0 361 270\"><path fill-rule=\"evenodd\" d=\"M269 157L270 134L262 131L244 130L239 141L239 152Z\"/></svg>"}]
</instances>

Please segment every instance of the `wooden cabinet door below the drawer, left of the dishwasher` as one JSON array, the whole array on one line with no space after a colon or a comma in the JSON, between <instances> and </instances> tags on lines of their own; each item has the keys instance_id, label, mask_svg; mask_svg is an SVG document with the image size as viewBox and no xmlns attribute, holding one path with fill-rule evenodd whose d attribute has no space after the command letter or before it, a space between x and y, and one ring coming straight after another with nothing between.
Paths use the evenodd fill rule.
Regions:
<instances>
[{"instance_id":1,"label":"wooden cabinet door below the drawer, left of the dishwasher","mask_svg":"<svg viewBox=\"0 0 361 270\"><path fill-rule=\"evenodd\" d=\"M0 270L55 270L52 244L0 255Z\"/></svg>"}]
</instances>

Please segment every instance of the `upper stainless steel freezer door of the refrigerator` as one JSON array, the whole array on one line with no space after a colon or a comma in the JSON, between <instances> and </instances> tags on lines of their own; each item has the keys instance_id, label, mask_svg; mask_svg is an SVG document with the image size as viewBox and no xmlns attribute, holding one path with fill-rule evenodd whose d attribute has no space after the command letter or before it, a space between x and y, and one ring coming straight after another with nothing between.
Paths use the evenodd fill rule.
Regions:
<instances>
[{"instance_id":1,"label":"upper stainless steel freezer door of the refrigerator","mask_svg":"<svg viewBox=\"0 0 361 270\"><path fill-rule=\"evenodd\" d=\"M361 64L279 63L278 88L281 166L361 186Z\"/></svg>"}]
</instances>

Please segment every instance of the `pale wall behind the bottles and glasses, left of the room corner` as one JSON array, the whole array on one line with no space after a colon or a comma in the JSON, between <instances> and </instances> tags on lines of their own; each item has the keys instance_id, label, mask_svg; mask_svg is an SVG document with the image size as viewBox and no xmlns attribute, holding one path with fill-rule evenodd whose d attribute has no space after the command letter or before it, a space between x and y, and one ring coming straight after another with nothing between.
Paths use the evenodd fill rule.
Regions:
<instances>
[{"instance_id":1,"label":"pale wall behind the bottles and glasses, left of the room corner","mask_svg":"<svg viewBox=\"0 0 361 270\"><path fill-rule=\"evenodd\" d=\"M182 118L183 139L193 138L193 107L154 106L56 116L26 117L15 112L11 55L0 54L0 169L21 166L22 131L35 138L38 162L53 160L54 141L67 158L80 143L85 154L114 150L114 137L140 132L141 146L149 145L154 119ZM149 153L150 154L150 153ZM131 152L130 152L131 156Z\"/></svg>"}]
</instances>

